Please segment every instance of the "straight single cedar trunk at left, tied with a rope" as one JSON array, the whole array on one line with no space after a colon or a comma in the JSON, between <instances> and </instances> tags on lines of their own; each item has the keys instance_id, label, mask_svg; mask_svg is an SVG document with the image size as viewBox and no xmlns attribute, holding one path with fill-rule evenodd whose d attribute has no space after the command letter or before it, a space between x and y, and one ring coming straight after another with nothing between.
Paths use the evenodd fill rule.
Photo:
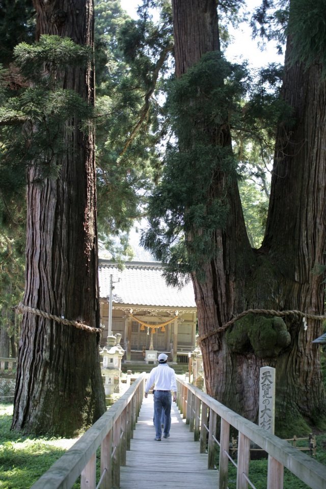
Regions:
<instances>
[{"instance_id":1,"label":"straight single cedar trunk at left, tied with a rope","mask_svg":"<svg viewBox=\"0 0 326 489\"><path fill-rule=\"evenodd\" d=\"M93 2L34 0L42 34L93 44ZM94 104L94 72L71 67L64 88ZM57 180L35 183L29 174L24 304L99 327L94 133L77 118L63 135L66 157ZM71 129L71 131L70 131ZM99 333L24 313L12 427L24 432L76 436L105 410Z\"/></svg>"}]
</instances>

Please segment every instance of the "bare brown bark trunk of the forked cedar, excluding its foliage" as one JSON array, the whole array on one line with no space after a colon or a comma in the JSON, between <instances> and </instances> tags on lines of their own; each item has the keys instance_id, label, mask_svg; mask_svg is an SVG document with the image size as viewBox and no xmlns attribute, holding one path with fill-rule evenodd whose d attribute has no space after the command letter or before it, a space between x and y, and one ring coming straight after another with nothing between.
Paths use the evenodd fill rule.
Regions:
<instances>
[{"instance_id":1,"label":"bare brown bark trunk of the forked cedar, excluding its foliage","mask_svg":"<svg viewBox=\"0 0 326 489\"><path fill-rule=\"evenodd\" d=\"M218 49L216 3L173 0L173 15L180 76L205 49ZM193 25L201 28L192 29ZM313 66L306 74L297 66L286 70L284 97L294 108L296 125L279 129L263 246L252 250L249 245L234 183L228 190L228 225L212 236L220 250L218 258L206 265L204 282L192 276L199 336L208 336L201 341L208 394L257 420L259 368L276 367L277 422L283 430L292 429L289 420L298 430L308 429L300 426L301 416L316 423L325 414L319 351L311 344L321 332L320 321L308 320L305 330L301 317L283 321L248 316L227 332L209 335L250 308L323 312L324 286L311 269L324 263L325 93L320 67ZM214 191L224 191L221 182L227 175L216 174Z\"/></svg>"}]
</instances>

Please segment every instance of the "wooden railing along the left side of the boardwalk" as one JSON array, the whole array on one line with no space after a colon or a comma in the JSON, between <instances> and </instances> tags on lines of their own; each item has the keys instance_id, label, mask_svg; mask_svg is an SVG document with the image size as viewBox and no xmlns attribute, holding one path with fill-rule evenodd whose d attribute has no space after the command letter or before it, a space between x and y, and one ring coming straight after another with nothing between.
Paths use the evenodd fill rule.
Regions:
<instances>
[{"instance_id":1,"label":"wooden railing along the left side of the boardwalk","mask_svg":"<svg viewBox=\"0 0 326 489\"><path fill-rule=\"evenodd\" d=\"M35 482L31 489L69 489L80 475L81 489L120 487L120 467L137 422L145 389L145 373ZM96 451L100 478L96 485Z\"/></svg>"}]
</instances>

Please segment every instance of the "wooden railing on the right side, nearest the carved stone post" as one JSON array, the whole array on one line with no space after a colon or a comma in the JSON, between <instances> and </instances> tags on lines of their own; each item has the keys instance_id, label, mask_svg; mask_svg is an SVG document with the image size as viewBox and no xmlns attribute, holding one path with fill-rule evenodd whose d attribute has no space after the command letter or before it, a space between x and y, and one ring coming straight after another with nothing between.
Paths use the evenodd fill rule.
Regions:
<instances>
[{"instance_id":1,"label":"wooden railing on the right side, nearest the carved stone post","mask_svg":"<svg viewBox=\"0 0 326 489\"><path fill-rule=\"evenodd\" d=\"M200 453L206 451L208 432L208 469L214 469L216 444L220 446L219 489L227 489L229 460L237 467L237 489L247 489L248 483L255 487L248 478L250 441L268 453L267 489L283 489L284 467L309 487L326 489L326 467L293 448L286 441L242 418L194 385L180 378L177 378L177 382L178 407L186 419L186 424L189 424L189 430L194 431L194 440L200 441ZM218 416L221 418L220 436L216 428ZM239 433L237 464L229 456L230 426L236 428Z\"/></svg>"}]
</instances>

